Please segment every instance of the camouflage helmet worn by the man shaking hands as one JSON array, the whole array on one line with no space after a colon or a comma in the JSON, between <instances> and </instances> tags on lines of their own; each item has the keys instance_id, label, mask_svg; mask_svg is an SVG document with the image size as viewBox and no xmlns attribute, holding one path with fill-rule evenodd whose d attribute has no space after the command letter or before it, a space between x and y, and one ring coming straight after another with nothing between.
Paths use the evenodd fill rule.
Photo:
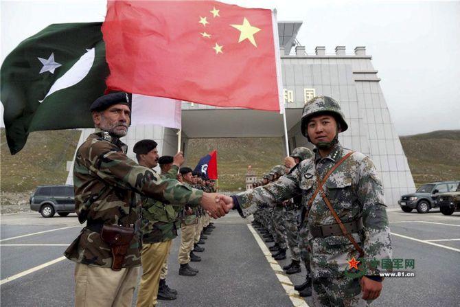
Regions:
<instances>
[{"instance_id":1,"label":"camouflage helmet worn by the man shaking hands","mask_svg":"<svg viewBox=\"0 0 460 307\"><path fill-rule=\"evenodd\" d=\"M341 132L348 129L347 122L345 122L345 116L343 115L341 105L336 100L327 96L317 96L308 100L305 106L303 106L302 120L301 120L301 131L304 137L308 137L307 124L308 120L314 115L320 113L332 113L336 121L341 127Z\"/></svg>"}]
</instances>

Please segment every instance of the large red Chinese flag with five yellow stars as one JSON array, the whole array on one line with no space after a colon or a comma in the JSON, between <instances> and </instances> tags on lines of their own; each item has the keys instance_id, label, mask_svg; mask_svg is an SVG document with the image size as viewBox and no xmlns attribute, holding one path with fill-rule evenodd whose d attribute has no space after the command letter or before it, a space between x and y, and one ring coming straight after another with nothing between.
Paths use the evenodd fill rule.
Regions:
<instances>
[{"instance_id":1,"label":"large red Chinese flag with five yellow stars","mask_svg":"<svg viewBox=\"0 0 460 307\"><path fill-rule=\"evenodd\" d=\"M280 109L271 10L218 1L108 1L102 33L109 89Z\"/></svg>"}]
</instances>

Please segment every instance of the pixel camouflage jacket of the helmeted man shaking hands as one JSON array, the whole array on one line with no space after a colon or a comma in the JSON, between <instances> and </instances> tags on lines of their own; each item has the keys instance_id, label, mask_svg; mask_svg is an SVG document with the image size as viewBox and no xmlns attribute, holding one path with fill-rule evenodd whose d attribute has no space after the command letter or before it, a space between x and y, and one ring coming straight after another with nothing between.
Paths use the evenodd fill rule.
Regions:
<instances>
[{"instance_id":1,"label":"pixel camouflage jacket of the helmeted man shaking hands","mask_svg":"<svg viewBox=\"0 0 460 307\"><path fill-rule=\"evenodd\" d=\"M317 189L315 167L319 177L323 177L336 161L347 155L350 150L337 144L325 158L316 152L314 159L306 159L292 173L282 176L275 183L237 194L244 216L252 214L257 205L268 203L271 207L277 203L302 195L302 203L308 200ZM343 223L363 217L364 229L352 234L365 252L365 260L391 258L391 238L384 205L382 182L377 177L376 168L369 157L354 152L341 164L323 185L327 198ZM334 224L336 221L325 205L321 194L314 198L308 210L303 230L311 226ZM345 236L327 236L312 238L309 231L303 232L302 240L308 240L311 253L312 273L315 277L337 277L347 271L347 261L358 258L358 252ZM378 269L369 269L365 275L376 275Z\"/></svg>"}]
</instances>

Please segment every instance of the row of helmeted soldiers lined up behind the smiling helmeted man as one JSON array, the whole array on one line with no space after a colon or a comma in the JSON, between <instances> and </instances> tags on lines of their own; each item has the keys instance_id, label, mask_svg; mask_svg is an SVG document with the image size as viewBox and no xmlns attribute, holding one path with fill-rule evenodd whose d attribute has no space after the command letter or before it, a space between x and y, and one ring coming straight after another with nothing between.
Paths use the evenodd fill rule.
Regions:
<instances>
[{"instance_id":1,"label":"row of helmeted soldiers lined up behind the smiling helmeted man","mask_svg":"<svg viewBox=\"0 0 460 307\"><path fill-rule=\"evenodd\" d=\"M262 176L261 181L253 183L253 188L275 182L290 169L305 159L311 159L313 152L306 147L298 147L292 150L290 157L286 157L284 166L277 165ZM299 228L305 216L305 207L301 203L301 196L296 196L288 201L276 204L275 207L262 205L253 214L252 225L260 231L265 242L274 242L268 249L272 251L275 260L286 259L286 251L290 249L290 264L283 266L286 274L301 272L301 261L306 266L306 282L295 286L301 297L312 295L310 261L307 251L301 253L299 248Z\"/></svg>"}]
</instances>

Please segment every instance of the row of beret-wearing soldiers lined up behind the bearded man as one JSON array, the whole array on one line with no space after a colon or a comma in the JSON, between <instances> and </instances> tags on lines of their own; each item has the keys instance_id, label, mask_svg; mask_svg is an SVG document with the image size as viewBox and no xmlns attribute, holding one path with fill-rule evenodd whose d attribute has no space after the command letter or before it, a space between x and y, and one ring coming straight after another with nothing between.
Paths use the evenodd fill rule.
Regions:
<instances>
[{"instance_id":1,"label":"row of beret-wearing soldiers lined up behind the bearded man","mask_svg":"<svg viewBox=\"0 0 460 307\"><path fill-rule=\"evenodd\" d=\"M133 151L140 166L153 169L159 164L161 177L176 178L179 182L203 192L216 192L215 182L205 174L182 167L179 172L172 169L174 157L159 157L157 142L152 139L138 141ZM199 262L201 258L195 253L205 251L200 245L205 244L207 235L215 228L203 207L176 207L163 204L153 198L141 196L141 233L142 233L142 277L137 295L137 306L156 306L157 299L176 299L177 291L166 283L168 275L168 258L172 240L181 229L181 246L179 249L179 275L195 276L198 273L189 262Z\"/></svg>"}]
</instances>

